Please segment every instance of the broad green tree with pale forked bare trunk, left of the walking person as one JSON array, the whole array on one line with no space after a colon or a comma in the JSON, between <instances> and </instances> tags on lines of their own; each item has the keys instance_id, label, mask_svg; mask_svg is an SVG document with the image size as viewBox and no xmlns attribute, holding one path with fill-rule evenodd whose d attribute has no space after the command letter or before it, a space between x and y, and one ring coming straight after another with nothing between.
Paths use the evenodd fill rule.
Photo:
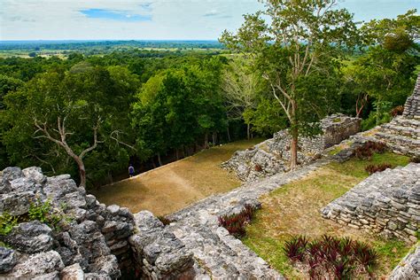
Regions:
<instances>
[{"instance_id":1,"label":"broad green tree with pale forked bare trunk, left of the walking person","mask_svg":"<svg viewBox=\"0 0 420 280\"><path fill-rule=\"evenodd\" d=\"M123 69L84 67L83 71L41 74L5 97L6 117L12 128L4 133L8 149L22 158L40 161L51 151L65 152L77 164L80 185L86 186L84 158L108 141L121 141L121 120L127 119L129 90L136 78ZM131 93L132 94L132 93ZM16 150L16 143L32 136L38 150ZM30 153L29 153L30 152Z\"/></svg>"}]
</instances>

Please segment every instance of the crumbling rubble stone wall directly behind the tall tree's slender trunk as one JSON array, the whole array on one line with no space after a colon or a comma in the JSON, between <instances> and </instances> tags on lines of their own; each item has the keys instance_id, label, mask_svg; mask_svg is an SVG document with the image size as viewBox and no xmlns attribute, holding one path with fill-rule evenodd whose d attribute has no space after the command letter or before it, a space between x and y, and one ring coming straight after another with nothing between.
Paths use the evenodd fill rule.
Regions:
<instances>
[{"instance_id":1,"label":"crumbling rubble stone wall directly behind the tall tree's slender trunk","mask_svg":"<svg viewBox=\"0 0 420 280\"><path fill-rule=\"evenodd\" d=\"M343 114L333 114L321 121L323 133L315 137L300 137L298 160L305 165L319 159L326 148L339 144L360 131L361 119ZM245 182L287 171L289 166L291 136L287 130L277 132L273 138L245 151L237 151L223 168L234 170Z\"/></svg>"}]
</instances>

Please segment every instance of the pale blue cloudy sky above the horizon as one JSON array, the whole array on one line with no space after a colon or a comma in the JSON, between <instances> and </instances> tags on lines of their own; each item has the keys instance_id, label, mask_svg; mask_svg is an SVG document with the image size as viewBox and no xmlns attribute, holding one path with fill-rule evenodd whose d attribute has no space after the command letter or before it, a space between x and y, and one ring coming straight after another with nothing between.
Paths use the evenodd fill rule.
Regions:
<instances>
[{"instance_id":1,"label":"pale blue cloudy sky above the horizon","mask_svg":"<svg viewBox=\"0 0 420 280\"><path fill-rule=\"evenodd\" d=\"M354 19L395 18L420 0L338 0ZM257 0L0 0L0 40L217 40Z\"/></svg>"}]
</instances>

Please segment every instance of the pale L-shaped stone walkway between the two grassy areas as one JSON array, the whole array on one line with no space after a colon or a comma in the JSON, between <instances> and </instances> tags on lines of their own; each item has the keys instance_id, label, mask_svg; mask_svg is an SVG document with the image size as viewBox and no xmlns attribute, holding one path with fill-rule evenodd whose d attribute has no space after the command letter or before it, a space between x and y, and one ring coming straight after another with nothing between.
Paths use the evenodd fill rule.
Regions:
<instances>
[{"instance_id":1,"label":"pale L-shaped stone walkway between the two grassy areas","mask_svg":"<svg viewBox=\"0 0 420 280\"><path fill-rule=\"evenodd\" d=\"M218 217L237 213L245 204L260 206L258 198L305 177L330 161L321 159L299 169L273 175L225 194L215 195L167 216L167 230L193 254L196 279L284 279L241 240L219 226Z\"/></svg>"}]
</instances>

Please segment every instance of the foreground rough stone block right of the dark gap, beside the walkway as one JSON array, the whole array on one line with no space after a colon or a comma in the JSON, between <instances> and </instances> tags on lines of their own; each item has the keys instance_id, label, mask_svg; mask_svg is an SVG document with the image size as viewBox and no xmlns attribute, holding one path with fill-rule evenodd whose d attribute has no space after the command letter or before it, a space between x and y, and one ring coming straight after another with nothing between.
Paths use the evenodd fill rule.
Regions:
<instances>
[{"instance_id":1,"label":"foreground rough stone block right of the dark gap, beside the walkway","mask_svg":"<svg viewBox=\"0 0 420 280\"><path fill-rule=\"evenodd\" d=\"M152 213L135 214L136 235L129 237L136 267L149 279L192 279L192 253Z\"/></svg>"}]
</instances>

